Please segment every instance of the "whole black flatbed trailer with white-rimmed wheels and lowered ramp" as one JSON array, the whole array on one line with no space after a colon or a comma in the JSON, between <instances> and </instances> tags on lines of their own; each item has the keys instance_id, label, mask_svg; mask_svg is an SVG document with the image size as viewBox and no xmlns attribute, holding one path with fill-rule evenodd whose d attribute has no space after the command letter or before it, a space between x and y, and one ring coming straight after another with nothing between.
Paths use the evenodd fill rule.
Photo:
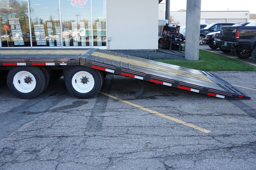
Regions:
<instances>
[{"instance_id":1,"label":"whole black flatbed trailer with white-rimmed wheels and lowered ramp","mask_svg":"<svg viewBox=\"0 0 256 170\"><path fill-rule=\"evenodd\" d=\"M51 77L64 76L69 93L80 99L95 96L106 74L117 74L221 99L250 99L225 80L207 71L189 69L114 53L89 49L76 57L2 57L2 77L14 95L32 99L48 86ZM1 74L0 74L1 75Z\"/></svg>"}]
</instances>

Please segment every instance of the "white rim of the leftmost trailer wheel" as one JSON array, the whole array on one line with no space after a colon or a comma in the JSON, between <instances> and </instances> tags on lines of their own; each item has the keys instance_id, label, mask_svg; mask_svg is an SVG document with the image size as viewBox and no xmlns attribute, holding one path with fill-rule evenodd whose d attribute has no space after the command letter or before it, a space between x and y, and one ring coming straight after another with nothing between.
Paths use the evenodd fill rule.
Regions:
<instances>
[{"instance_id":1,"label":"white rim of the leftmost trailer wheel","mask_svg":"<svg viewBox=\"0 0 256 170\"><path fill-rule=\"evenodd\" d=\"M25 81L28 80L26 83ZM19 71L14 75L13 85L19 92L29 93L35 89L36 79L33 74L28 71Z\"/></svg>"}]
</instances>

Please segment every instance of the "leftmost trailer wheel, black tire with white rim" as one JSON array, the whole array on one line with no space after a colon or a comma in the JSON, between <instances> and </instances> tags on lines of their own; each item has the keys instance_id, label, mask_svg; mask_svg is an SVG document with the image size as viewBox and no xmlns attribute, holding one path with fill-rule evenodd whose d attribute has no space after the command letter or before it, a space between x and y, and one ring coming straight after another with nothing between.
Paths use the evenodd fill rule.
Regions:
<instances>
[{"instance_id":1,"label":"leftmost trailer wheel, black tire with white rim","mask_svg":"<svg viewBox=\"0 0 256 170\"><path fill-rule=\"evenodd\" d=\"M7 86L15 96L33 99L44 90L46 78L39 67L16 66L7 75Z\"/></svg>"}]
</instances>

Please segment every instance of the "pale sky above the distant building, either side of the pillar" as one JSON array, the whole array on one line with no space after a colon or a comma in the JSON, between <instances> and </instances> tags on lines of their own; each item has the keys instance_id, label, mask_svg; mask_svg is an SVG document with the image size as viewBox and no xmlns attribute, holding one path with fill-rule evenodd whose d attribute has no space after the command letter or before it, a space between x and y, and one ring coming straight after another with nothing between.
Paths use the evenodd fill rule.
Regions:
<instances>
[{"instance_id":1,"label":"pale sky above the distant building, either side of the pillar","mask_svg":"<svg viewBox=\"0 0 256 170\"><path fill-rule=\"evenodd\" d=\"M166 0L163 0L165 2ZM187 0L170 0L170 11L178 11L187 8ZM174 5L172 5L174 3ZM256 14L255 0L201 0L201 11L250 11L250 14Z\"/></svg>"}]
</instances>

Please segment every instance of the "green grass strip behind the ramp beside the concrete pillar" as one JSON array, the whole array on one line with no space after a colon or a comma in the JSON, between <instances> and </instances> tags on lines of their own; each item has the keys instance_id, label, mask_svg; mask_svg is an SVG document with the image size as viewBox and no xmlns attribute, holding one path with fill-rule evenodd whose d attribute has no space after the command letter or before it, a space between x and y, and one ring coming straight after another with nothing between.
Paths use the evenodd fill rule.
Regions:
<instances>
[{"instance_id":1,"label":"green grass strip behind the ramp beside the concrete pillar","mask_svg":"<svg viewBox=\"0 0 256 170\"><path fill-rule=\"evenodd\" d=\"M156 59L155 61L203 71L256 71L256 67L248 65L247 63L201 49L199 50L198 61L161 59Z\"/></svg>"}]
</instances>

